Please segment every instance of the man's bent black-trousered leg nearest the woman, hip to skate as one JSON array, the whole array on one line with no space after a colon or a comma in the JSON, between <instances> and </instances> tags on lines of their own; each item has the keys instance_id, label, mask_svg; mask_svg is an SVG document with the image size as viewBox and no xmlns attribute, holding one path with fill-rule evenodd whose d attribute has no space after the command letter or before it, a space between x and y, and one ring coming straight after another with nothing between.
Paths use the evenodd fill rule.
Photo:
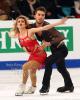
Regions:
<instances>
[{"instance_id":1,"label":"man's bent black-trousered leg nearest the woman, hip to skate","mask_svg":"<svg viewBox=\"0 0 80 100\"><path fill-rule=\"evenodd\" d=\"M45 73L44 73L42 88L40 89L40 93L49 92L50 78L51 78L51 74L52 74L52 64L57 62L60 57L61 57L61 52L57 51L54 55L50 55L46 59Z\"/></svg>"}]
</instances>

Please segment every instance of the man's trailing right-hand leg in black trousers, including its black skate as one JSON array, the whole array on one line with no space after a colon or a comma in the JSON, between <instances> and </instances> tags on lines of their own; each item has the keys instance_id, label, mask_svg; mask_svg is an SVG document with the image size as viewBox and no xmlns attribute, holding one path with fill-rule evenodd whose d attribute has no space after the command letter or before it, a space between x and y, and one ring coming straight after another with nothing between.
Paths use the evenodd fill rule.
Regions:
<instances>
[{"instance_id":1,"label":"man's trailing right-hand leg in black trousers, including its black skate","mask_svg":"<svg viewBox=\"0 0 80 100\"><path fill-rule=\"evenodd\" d=\"M57 89L58 92L66 92L70 91L73 92L74 86L70 77L69 72L67 71L65 67L65 60L62 59L57 63L57 70L61 73L63 79L64 79L64 86Z\"/></svg>"}]
</instances>

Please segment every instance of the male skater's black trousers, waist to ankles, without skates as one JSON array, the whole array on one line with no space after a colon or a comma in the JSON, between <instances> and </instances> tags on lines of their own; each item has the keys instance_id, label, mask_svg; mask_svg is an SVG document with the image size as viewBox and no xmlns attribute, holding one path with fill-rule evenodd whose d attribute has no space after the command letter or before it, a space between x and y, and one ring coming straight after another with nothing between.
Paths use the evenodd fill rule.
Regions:
<instances>
[{"instance_id":1,"label":"male skater's black trousers, waist to ankles, without skates","mask_svg":"<svg viewBox=\"0 0 80 100\"><path fill-rule=\"evenodd\" d=\"M57 70L61 73L65 86L72 86L73 83L71 81L69 72L65 67L65 57L68 54L68 50L65 45L61 45L58 49L56 49L52 55L47 57L45 62L45 72L43 77L43 86L48 88L50 87L50 78L52 74L52 64L56 63Z\"/></svg>"}]
</instances>

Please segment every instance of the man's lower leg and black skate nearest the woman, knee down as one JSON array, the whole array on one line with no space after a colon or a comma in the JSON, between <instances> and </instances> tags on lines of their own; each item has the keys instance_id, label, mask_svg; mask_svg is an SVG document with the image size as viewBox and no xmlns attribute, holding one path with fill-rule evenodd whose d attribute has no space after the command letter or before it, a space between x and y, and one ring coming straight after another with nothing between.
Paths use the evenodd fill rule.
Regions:
<instances>
[{"instance_id":1,"label":"man's lower leg and black skate nearest the woman, knee down","mask_svg":"<svg viewBox=\"0 0 80 100\"><path fill-rule=\"evenodd\" d=\"M53 55L50 55L46 59L45 72L43 76L42 88L40 89L40 93L46 94L47 92L49 92L50 79L51 79L51 74L52 74L52 64L54 63L53 58L54 58Z\"/></svg>"}]
</instances>

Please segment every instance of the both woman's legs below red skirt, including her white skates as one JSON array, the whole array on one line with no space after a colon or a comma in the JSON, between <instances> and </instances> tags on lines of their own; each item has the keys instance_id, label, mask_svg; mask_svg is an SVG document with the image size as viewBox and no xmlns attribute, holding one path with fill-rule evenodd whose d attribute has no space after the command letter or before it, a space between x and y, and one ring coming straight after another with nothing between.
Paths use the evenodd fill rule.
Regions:
<instances>
[{"instance_id":1,"label":"both woman's legs below red skirt, including her white skates","mask_svg":"<svg viewBox=\"0 0 80 100\"><path fill-rule=\"evenodd\" d=\"M25 64L23 64L22 69L23 69L23 81L22 84L20 85L19 89L16 91L15 95L16 96L21 96L23 93L34 93L36 89L36 70L40 66L40 63L37 61L28 61ZM25 91L26 87L26 82L28 79L28 70L30 70L30 78L32 82L32 86L29 88L28 91Z\"/></svg>"}]
</instances>

